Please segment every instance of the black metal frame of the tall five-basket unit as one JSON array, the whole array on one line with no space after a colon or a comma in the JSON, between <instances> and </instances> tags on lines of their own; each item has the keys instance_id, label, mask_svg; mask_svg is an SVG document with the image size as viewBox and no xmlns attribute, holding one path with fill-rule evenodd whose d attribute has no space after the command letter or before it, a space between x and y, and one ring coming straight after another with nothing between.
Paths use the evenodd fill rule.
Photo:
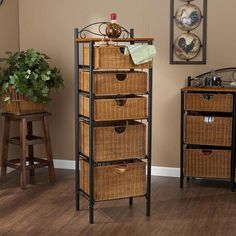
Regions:
<instances>
[{"instance_id":1,"label":"black metal frame of the tall five-basket unit","mask_svg":"<svg viewBox=\"0 0 236 236\"><path fill-rule=\"evenodd\" d=\"M93 24L90 24L86 27L84 27L81 31L78 29L74 30L74 87L75 87L75 160L76 160L76 210L80 210L80 195L85 197L89 201L89 222L90 224L94 223L94 166L95 162L93 159L93 127L95 124L94 121L94 99L96 98L93 91L94 91L94 67L93 67L93 60L94 60L94 41L88 40L87 43L89 43L89 66L80 65L79 63L79 44L80 42L77 42L76 39L78 38L87 38L86 34L84 32L96 35L96 36L104 36L104 34L101 32L101 25L107 24L107 22L96 22ZM89 29L89 27L97 25L99 28L99 33L93 32ZM130 29L130 31L127 31L125 28L122 27L123 30L123 38L130 37L131 39L134 38L134 30ZM127 37L126 37L127 36ZM130 44L135 43L135 40L130 40ZM145 43L145 41L144 41ZM148 42L149 44L152 44L152 42ZM89 87L89 93L84 94L81 91L79 91L79 69L87 69L90 72L90 87ZM148 150L147 150L147 193L144 196L140 197L146 197L146 215L150 216L151 212L151 153L152 153L152 68L149 69L149 82L148 82L148 93L146 94L148 96ZM89 108L90 108L90 114L89 117L83 117L80 115L80 108L79 108L79 96L80 95L86 95L89 96L90 102L89 102ZM89 122L89 156L85 157L82 153L80 153L79 150L79 122L80 120L87 120ZM80 165L79 160L80 158L84 158L89 161L89 183L90 183L90 194L86 194L81 188L80 188ZM99 163L99 162L96 162ZM139 197L139 196L138 196ZM133 204L133 197L129 197L129 205L131 206Z\"/></svg>"}]
</instances>

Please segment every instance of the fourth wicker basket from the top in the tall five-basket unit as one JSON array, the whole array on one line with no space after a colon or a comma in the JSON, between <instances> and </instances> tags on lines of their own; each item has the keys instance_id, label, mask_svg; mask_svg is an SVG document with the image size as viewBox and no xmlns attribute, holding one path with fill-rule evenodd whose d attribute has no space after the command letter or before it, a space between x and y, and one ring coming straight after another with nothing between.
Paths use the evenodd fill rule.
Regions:
<instances>
[{"instance_id":1,"label":"fourth wicker basket from the top in the tall five-basket unit","mask_svg":"<svg viewBox=\"0 0 236 236\"><path fill-rule=\"evenodd\" d=\"M80 122L80 150L89 156L89 124ZM94 160L112 161L146 156L146 125L136 121L100 123L94 127Z\"/></svg>"}]
</instances>

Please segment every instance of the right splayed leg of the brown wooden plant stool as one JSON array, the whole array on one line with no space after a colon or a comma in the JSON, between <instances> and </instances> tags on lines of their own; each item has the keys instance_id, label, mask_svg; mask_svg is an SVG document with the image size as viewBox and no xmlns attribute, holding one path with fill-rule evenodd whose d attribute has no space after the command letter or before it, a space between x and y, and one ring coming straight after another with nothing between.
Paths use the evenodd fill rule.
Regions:
<instances>
[{"instance_id":1,"label":"right splayed leg of the brown wooden plant stool","mask_svg":"<svg viewBox=\"0 0 236 236\"><path fill-rule=\"evenodd\" d=\"M48 118L46 116L43 117L43 132L44 132L44 137L46 139L45 148L46 148L46 154L47 154L47 160L48 160L49 178L50 178L50 182L54 183L56 181L56 177L55 177L53 158L52 158L52 147L51 147L51 141L50 141L50 135L49 135Z\"/></svg>"}]
</instances>

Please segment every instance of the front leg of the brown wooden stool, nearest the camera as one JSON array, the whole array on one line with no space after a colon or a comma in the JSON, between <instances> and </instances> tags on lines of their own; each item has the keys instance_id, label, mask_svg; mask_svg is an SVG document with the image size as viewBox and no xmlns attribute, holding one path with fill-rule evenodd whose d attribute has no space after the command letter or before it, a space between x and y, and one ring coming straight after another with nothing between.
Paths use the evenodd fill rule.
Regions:
<instances>
[{"instance_id":1,"label":"front leg of the brown wooden stool, nearest the camera","mask_svg":"<svg viewBox=\"0 0 236 236\"><path fill-rule=\"evenodd\" d=\"M26 119L20 121L20 185L26 186Z\"/></svg>"}]
</instances>

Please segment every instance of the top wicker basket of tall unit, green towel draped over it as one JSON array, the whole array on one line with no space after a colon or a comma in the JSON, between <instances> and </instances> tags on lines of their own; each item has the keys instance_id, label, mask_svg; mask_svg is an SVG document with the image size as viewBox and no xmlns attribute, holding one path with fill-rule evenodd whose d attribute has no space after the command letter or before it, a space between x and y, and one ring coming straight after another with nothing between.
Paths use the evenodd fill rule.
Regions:
<instances>
[{"instance_id":1,"label":"top wicker basket of tall unit, green towel draped over it","mask_svg":"<svg viewBox=\"0 0 236 236\"><path fill-rule=\"evenodd\" d=\"M130 55L124 55L125 46L94 47L95 69L148 69L152 62L135 65ZM84 65L89 65L89 47L84 46Z\"/></svg>"}]
</instances>

